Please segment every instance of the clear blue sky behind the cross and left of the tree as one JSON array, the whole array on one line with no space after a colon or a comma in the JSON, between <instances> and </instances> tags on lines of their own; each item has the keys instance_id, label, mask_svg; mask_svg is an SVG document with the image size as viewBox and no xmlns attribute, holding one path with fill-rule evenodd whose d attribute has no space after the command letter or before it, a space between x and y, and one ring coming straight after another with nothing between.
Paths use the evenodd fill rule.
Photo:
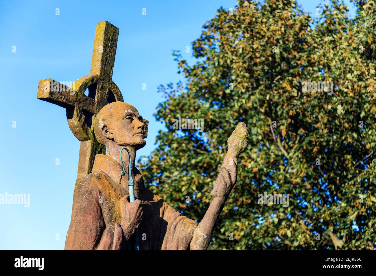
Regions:
<instances>
[{"instance_id":1,"label":"clear blue sky behind the cross and left of the tree","mask_svg":"<svg viewBox=\"0 0 376 276\"><path fill-rule=\"evenodd\" d=\"M312 17L319 2L298 1ZM147 145L138 151L149 155L162 128L152 116L163 100L157 87L182 79L172 50L193 63L186 46L220 6L236 3L0 0L0 194L30 195L29 207L0 205L0 250L64 249L70 223L80 143L65 109L36 98L38 81L73 82L88 75L96 24L114 24L119 39L112 80L124 101L150 121Z\"/></svg>"}]
</instances>

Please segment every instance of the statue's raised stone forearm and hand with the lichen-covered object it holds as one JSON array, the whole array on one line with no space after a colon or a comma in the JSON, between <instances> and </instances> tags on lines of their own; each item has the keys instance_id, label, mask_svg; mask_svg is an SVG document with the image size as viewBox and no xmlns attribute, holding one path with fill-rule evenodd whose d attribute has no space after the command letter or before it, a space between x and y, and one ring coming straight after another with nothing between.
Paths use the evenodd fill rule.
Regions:
<instances>
[{"instance_id":1,"label":"statue's raised stone forearm and hand with the lichen-covered object it holds","mask_svg":"<svg viewBox=\"0 0 376 276\"><path fill-rule=\"evenodd\" d=\"M240 122L229 139L227 153L224 157L217 181L215 181L212 196L214 197L205 216L194 230L190 243L191 250L206 250L211 241L215 222L223 209L227 197L235 186L238 176L238 157L247 148L247 127Z\"/></svg>"}]
</instances>

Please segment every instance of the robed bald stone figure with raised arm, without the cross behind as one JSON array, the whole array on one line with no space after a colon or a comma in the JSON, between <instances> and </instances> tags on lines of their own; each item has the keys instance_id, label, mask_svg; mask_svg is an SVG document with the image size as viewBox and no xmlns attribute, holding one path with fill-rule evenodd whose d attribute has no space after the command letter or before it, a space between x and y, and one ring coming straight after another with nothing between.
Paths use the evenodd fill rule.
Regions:
<instances>
[{"instance_id":1,"label":"robed bald stone figure with raised arm, without the cross behind","mask_svg":"<svg viewBox=\"0 0 376 276\"><path fill-rule=\"evenodd\" d=\"M145 124L135 107L114 102L94 121L97 140L107 154L97 154L92 172L76 186L72 220L65 249L132 249L138 229L140 250L205 250L214 224L237 179L237 158L247 146L247 130L239 123L228 139L228 151L212 190L214 197L200 223L182 216L144 186L134 166L136 151L145 146ZM119 152L126 147L132 158L136 201L129 203L128 174L122 176ZM124 166L129 157L122 152Z\"/></svg>"}]
</instances>

